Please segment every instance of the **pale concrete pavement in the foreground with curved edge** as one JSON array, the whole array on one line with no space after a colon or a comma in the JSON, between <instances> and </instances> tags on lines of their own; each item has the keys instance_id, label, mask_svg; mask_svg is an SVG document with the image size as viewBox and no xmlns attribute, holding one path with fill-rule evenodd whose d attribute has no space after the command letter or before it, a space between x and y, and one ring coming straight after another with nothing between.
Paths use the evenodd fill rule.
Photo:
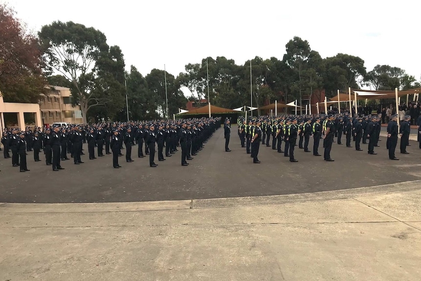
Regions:
<instances>
[{"instance_id":1,"label":"pale concrete pavement in the foreground with curved edge","mask_svg":"<svg viewBox=\"0 0 421 281\"><path fill-rule=\"evenodd\" d=\"M0 281L418 281L421 181L311 194L0 204Z\"/></svg>"}]
</instances>

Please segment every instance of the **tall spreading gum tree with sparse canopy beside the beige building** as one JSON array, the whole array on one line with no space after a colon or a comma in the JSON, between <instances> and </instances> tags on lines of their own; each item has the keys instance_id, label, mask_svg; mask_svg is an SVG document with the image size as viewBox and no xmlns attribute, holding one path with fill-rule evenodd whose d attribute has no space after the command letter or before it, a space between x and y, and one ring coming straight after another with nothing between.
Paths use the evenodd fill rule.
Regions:
<instances>
[{"instance_id":1,"label":"tall spreading gum tree with sparse canopy beside the beige building","mask_svg":"<svg viewBox=\"0 0 421 281\"><path fill-rule=\"evenodd\" d=\"M44 25L39 37L47 64L73 84L73 100L81 106L84 123L90 108L113 102L115 91L105 91L107 85L98 63L110 52L101 31L83 24L59 21ZM101 87L103 89L97 91Z\"/></svg>"}]
</instances>

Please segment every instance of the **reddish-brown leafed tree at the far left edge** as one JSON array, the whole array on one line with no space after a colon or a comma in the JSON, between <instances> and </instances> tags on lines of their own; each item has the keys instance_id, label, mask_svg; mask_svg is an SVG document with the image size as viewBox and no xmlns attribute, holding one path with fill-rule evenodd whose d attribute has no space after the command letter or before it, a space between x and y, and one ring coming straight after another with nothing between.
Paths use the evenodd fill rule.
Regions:
<instances>
[{"instance_id":1,"label":"reddish-brown leafed tree at the far left edge","mask_svg":"<svg viewBox=\"0 0 421 281\"><path fill-rule=\"evenodd\" d=\"M6 102L38 103L44 92L42 52L36 36L0 4L0 91Z\"/></svg>"}]
</instances>

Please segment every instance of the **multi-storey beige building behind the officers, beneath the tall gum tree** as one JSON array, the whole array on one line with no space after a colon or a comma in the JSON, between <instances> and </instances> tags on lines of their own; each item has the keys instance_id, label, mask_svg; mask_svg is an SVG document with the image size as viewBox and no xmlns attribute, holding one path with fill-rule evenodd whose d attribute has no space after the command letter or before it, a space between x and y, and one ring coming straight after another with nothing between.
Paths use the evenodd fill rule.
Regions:
<instances>
[{"instance_id":1,"label":"multi-storey beige building behind the officers, beneath the tall gum tree","mask_svg":"<svg viewBox=\"0 0 421 281\"><path fill-rule=\"evenodd\" d=\"M81 123L82 118L76 118L75 111L79 107L72 107L70 89L61 86L45 86L47 93L40 96L40 108L44 124L54 122Z\"/></svg>"}]
</instances>

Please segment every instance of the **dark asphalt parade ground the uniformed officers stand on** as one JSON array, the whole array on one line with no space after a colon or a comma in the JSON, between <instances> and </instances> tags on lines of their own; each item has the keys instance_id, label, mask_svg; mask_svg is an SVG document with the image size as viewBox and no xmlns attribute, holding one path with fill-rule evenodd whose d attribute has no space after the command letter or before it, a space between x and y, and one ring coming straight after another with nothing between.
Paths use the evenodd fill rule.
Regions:
<instances>
[{"instance_id":1,"label":"dark asphalt parade ground the uniformed officers stand on","mask_svg":"<svg viewBox=\"0 0 421 281\"><path fill-rule=\"evenodd\" d=\"M386 139L380 137L377 155L355 147L333 144L331 156L335 162L323 161L323 156L313 156L295 147L297 163L260 145L260 164L253 164L250 154L241 148L236 125L232 126L230 149L224 149L224 130L216 130L205 148L193 156L188 167L181 166L181 148L166 161L159 161L150 168L148 156L137 157L137 146L132 147L132 163L125 156L119 157L120 169L113 169L112 155L89 160L84 144L82 161L74 165L73 159L62 161L65 170L53 172L45 165L43 153L40 162L34 162L33 152L28 152L28 169L20 173L12 167L11 158L0 159L0 202L9 203L100 203L137 202L158 200L191 200L262 195L288 195L369 187L412 181L421 177L421 150L419 143L411 140L410 154L396 156L400 161L388 159ZM345 143L345 137L342 137ZM352 143L354 146L354 143ZM283 149L283 148L282 148ZM309 149L313 150L313 139ZM323 154L322 141L319 151ZM96 153L96 151L95 151ZM126 151L122 150L125 154ZM70 155L68 155L70 158Z\"/></svg>"}]
</instances>

